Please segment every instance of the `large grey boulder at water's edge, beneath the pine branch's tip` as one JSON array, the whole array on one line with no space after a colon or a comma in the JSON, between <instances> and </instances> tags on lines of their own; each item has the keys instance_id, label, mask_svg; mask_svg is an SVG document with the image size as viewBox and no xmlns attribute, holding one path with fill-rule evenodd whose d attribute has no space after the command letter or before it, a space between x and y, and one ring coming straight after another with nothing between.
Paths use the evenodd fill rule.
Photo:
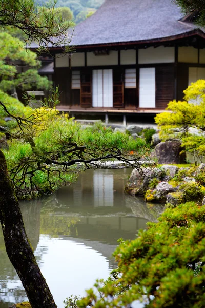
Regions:
<instances>
[{"instance_id":1,"label":"large grey boulder at water's edge, beneath the pine branch's tip","mask_svg":"<svg viewBox=\"0 0 205 308\"><path fill-rule=\"evenodd\" d=\"M125 191L131 195L144 196L149 189L150 182L156 178L160 180L163 171L160 168L134 169L131 173L129 182L126 184Z\"/></svg>"}]
</instances>

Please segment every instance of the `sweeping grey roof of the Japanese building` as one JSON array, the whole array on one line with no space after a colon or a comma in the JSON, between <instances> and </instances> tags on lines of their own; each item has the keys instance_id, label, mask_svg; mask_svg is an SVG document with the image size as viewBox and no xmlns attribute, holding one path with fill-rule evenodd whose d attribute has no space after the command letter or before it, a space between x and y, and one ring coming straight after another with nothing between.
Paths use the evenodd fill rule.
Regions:
<instances>
[{"instance_id":1,"label":"sweeping grey roof of the Japanese building","mask_svg":"<svg viewBox=\"0 0 205 308\"><path fill-rule=\"evenodd\" d=\"M106 0L75 27L72 45L124 43L172 37L197 27L181 22L172 0Z\"/></svg>"}]
</instances>

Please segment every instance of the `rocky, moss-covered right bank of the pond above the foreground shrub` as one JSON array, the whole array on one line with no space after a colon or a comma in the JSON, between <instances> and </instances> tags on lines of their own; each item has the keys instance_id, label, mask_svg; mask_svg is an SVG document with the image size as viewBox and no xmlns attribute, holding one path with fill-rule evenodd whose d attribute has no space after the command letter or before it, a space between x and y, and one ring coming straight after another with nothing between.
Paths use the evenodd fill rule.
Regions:
<instances>
[{"instance_id":1,"label":"rocky, moss-covered right bank of the pond above the foreground shrub","mask_svg":"<svg viewBox=\"0 0 205 308\"><path fill-rule=\"evenodd\" d=\"M158 168L134 169L126 192L144 196L146 201L176 206L188 201L205 203L205 164L192 167L163 165Z\"/></svg>"}]
</instances>

